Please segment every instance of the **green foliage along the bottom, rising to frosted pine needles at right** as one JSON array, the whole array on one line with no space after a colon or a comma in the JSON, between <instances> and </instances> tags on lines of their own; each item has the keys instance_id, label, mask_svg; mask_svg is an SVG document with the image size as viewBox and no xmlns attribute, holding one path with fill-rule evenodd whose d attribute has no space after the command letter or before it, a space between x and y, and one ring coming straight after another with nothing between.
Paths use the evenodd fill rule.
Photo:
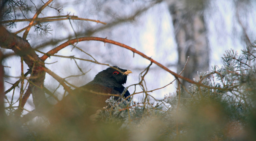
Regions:
<instances>
[{"instance_id":1,"label":"green foliage along the bottom, rising to frosted pine needles at right","mask_svg":"<svg viewBox=\"0 0 256 141\"><path fill-rule=\"evenodd\" d=\"M255 43L256 44L256 43ZM1 140L256 140L255 44L226 51L223 66L198 73L206 88L180 85L175 93L156 100L106 102L111 108L91 117L93 124L51 126L44 116L22 122L11 113L1 119ZM161 79L161 78L160 78ZM196 79L195 79L196 80ZM181 97L182 96L182 97ZM149 100L155 99L155 100ZM4 122L3 122L4 121ZM77 122L74 122L77 123Z\"/></svg>"}]
</instances>

